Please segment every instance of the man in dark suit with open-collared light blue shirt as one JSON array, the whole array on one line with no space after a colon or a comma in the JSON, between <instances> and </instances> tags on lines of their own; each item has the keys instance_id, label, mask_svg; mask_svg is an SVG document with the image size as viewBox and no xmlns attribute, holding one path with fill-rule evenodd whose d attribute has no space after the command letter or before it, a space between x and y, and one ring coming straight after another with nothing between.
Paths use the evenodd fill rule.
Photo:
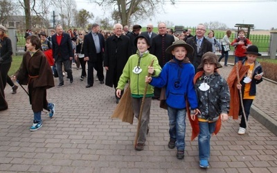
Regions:
<instances>
[{"instance_id":1,"label":"man in dark suit with open-collared light blue shirt","mask_svg":"<svg viewBox=\"0 0 277 173\"><path fill-rule=\"evenodd\" d=\"M100 84L104 84L103 51L105 39L99 30L98 24L92 24L91 33L84 36L84 61L87 61L88 65L86 88L93 86L93 67L97 71Z\"/></svg>"}]
</instances>

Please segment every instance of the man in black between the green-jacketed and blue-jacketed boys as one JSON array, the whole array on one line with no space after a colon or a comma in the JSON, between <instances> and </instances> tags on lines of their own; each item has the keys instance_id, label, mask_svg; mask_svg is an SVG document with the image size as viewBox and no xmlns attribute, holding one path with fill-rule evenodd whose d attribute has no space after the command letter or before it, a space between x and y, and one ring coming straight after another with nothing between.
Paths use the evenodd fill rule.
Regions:
<instances>
[{"instance_id":1,"label":"man in black between the green-jacketed and blue-jacketed boys","mask_svg":"<svg viewBox=\"0 0 277 173\"><path fill-rule=\"evenodd\" d=\"M159 65L161 68L170 60L172 60L172 55L166 53L166 48L175 42L173 35L168 35L166 33L166 24L161 22L158 25L159 34L152 39L152 44L150 48L150 53L155 55L159 60ZM154 87L154 98L159 99L161 95L161 89Z\"/></svg>"}]
</instances>

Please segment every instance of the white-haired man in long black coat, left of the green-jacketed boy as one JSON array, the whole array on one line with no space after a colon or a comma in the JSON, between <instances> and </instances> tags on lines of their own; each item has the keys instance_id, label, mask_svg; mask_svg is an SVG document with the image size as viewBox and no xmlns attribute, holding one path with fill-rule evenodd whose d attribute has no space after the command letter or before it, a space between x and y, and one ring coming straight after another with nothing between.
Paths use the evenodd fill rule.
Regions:
<instances>
[{"instance_id":1,"label":"white-haired man in long black coat, left of the green-jacketed boy","mask_svg":"<svg viewBox=\"0 0 277 173\"><path fill-rule=\"evenodd\" d=\"M109 37L105 43L104 67L107 71L105 84L111 87L114 86L114 89L117 87L129 56L132 55L130 39L122 32L123 26L115 24L114 35ZM116 103L118 102L119 98L116 97Z\"/></svg>"}]
</instances>

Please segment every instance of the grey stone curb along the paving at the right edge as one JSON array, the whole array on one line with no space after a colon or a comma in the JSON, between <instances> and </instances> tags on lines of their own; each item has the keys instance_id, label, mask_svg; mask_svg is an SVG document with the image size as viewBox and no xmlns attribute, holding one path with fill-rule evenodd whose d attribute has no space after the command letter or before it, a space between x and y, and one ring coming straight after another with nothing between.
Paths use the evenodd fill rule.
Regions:
<instances>
[{"instance_id":1,"label":"grey stone curb along the paving at the right edge","mask_svg":"<svg viewBox=\"0 0 277 173\"><path fill-rule=\"evenodd\" d=\"M267 129L269 129L269 131L271 131L273 134L275 134L277 136L277 121L276 120L274 120L270 116L267 116L266 113L264 113L263 111L258 109L258 107L254 106L253 104L251 106L250 112L251 112L251 116L253 116L253 118L258 120L258 122L260 122L262 125L267 127Z\"/></svg>"}]
</instances>

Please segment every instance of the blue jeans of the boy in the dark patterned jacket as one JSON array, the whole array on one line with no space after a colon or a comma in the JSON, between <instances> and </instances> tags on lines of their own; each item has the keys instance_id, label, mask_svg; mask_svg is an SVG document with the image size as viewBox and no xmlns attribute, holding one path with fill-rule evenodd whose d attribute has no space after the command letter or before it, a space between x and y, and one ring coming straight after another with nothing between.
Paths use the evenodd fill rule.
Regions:
<instances>
[{"instance_id":1,"label":"blue jeans of the boy in the dark patterned jacket","mask_svg":"<svg viewBox=\"0 0 277 173\"><path fill-rule=\"evenodd\" d=\"M210 139L211 134L215 131L215 122L199 122L199 161L210 159Z\"/></svg>"}]
</instances>

